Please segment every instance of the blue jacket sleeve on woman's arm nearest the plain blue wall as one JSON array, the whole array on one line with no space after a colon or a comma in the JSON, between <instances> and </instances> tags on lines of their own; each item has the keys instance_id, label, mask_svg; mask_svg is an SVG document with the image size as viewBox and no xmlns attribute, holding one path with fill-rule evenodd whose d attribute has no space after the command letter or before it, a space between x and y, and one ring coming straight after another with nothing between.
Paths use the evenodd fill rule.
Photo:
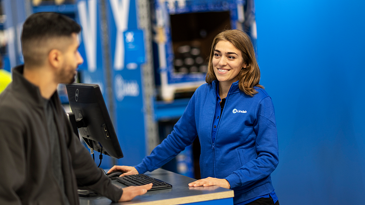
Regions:
<instances>
[{"instance_id":1,"label":"blue jacket sleeve on woman's arm nearest the plain blue wall","mask_svg":"<svg viewBox=\"0 0 365 205\"><path fill-rule=\"evenodd\" d=\"M257 183L270 176L279 163L274 105L270 97L258 104L253 130L257 135L257 157L225 178L231 188Z\"/></svg>"}]
</instances>

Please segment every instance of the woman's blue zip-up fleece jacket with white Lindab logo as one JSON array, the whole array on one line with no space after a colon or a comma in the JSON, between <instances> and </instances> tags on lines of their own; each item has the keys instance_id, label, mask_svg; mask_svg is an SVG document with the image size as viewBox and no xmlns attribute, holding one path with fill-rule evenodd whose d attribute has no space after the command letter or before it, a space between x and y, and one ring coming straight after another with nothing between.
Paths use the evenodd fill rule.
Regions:
<instances>
[{"instance_id":1,"label":"woman's blue zip-up fleece jacket with white Lindab logo","mask_svg":"<svg viewBox=\"0 0 365 205\"><path fill-rule=\"evenodd\" d=\"M231 85L213 143L216 82L201 85L171 134L136 166L137 171L159 168L199 136L202 179L227 179L234 204L271 193L270 175L278 164L274 105L264 89L256 90L251 97L239 90L238 81Z\"/></svg>"}]
</instances>

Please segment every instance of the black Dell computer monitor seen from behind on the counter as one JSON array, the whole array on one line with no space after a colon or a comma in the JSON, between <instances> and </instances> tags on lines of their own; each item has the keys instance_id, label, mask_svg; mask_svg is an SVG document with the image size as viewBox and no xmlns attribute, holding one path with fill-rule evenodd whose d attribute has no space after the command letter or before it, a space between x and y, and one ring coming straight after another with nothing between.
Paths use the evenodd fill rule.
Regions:
<instances>
[{"instance_id":1,"label":"black Dell computer monitor seen from behind on the counter","mask_svg":"<svg viewBox=\"0 0 365 205\"><path fill-rule=\"evenodd\" d=\"M107 106L97 84L72 83L66 84L68 102L74 118L70 118L74 131L79 130L80 136L92 150L122 158L118 138L110 119Z\"/></svg>"}]
</instances>

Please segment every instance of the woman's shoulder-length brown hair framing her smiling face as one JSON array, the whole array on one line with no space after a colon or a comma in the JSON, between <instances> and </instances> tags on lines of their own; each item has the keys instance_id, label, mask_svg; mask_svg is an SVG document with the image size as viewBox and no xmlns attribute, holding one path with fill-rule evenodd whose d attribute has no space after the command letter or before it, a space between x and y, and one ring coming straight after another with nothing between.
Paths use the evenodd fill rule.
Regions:
<instances>
[{"instance_id":1,"label":"woman's shoulder-length brown hair framing her smiling face","mask_svg":"<svg viewBox=\"0 0 365 205\"><path fill-rule=\"evenodd\" d=\"M244 93L254 96L257 91L253 88L253 86L264 88L259 84L260 68L256 62L256 56L250 37L245 32L240 30L226 30L214 38L210 50L208 71L206 73L205 82L211 84L214 80L217 80L217 77L214 73L212 60L214 57L215 46L219 41L228 41L241 51L242 60L247 64L247 67L242 68L238 73L238 85L240 90L242 90Z\"/></svg>"}]
</instances>

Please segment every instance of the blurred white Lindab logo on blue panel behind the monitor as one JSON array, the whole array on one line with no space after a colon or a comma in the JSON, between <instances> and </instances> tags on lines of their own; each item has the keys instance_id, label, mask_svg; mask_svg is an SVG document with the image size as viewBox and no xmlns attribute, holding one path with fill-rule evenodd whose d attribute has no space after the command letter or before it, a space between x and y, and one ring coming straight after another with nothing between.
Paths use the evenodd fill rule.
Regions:
<instances>
[{"instance_id":1,"label":"blurred white Lindab logo on blue panel behind the monitor","mask_svg":"<svg viewBox=\"0 0 365 205\"><path fill-rule=\"evenodd\" d=\"M139 95L139 85L137 81L126 81L120 74L114 79L115 97L118 101L122 101L125 96L137 97Z\"/></svg>"}]
</instances>

